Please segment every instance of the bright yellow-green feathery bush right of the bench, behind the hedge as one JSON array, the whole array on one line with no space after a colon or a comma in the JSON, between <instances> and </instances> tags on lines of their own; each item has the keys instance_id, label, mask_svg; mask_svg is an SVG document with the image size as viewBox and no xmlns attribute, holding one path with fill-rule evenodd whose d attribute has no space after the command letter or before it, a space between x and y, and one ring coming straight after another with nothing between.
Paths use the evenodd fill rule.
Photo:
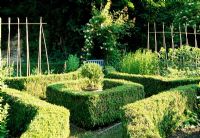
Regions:
<instances>
[{"instance_id":1,"label":"bright yellow-green feathery bush right of the bench, behind the hedge","mask_svg":"<svg viewBox=\"0 0 200 138\"><path fill-rule=\"evenodd\" d=\"M137 50L125 55L121 62L121 71L133 74L158 74L159 58L148 50Z\"/></svg>"}]
</instances>

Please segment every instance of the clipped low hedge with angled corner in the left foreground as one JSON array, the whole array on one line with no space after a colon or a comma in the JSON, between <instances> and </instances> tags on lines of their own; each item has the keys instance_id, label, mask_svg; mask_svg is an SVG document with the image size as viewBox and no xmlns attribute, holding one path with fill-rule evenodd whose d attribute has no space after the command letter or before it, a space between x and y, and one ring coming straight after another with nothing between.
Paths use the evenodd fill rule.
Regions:
<instances>
[{"instance_id":1,"label":"clipped low hedge with angled corner in the left foreground","mask_svg":"<svg viewBox=\"0 0 200 138\"><path fill-rule=\"evenodd\" d=\"M2 89L0 96L10 105L7 126L10 137L66 138L69 136L67 109L51 105L27 93Z\"/></svg>"}]
</instances>

